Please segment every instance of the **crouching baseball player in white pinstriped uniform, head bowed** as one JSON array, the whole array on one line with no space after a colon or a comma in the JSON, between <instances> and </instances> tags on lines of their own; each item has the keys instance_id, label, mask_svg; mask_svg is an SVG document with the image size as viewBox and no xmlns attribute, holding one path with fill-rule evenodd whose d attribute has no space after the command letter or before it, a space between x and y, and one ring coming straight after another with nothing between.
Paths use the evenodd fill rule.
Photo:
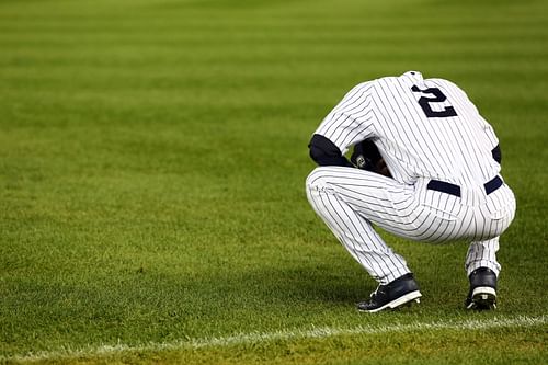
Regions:
<instances>
[{"instance_id":1,"label":"crouching baseball player in white pinstriped uniform, head bowed","mask_svg":"<svg viewBox=\"0 0 548 365\"><path fill-rule=\"evenodd\" d=\"M306 181L308 201L378 282L358 310L422 296L406 260L374 225L416 241L470 240L466 307L495 308L495 254L515 199L500 174L493 128L461 89L416 71L361 83L327 115L309 148L319 167Z\"/></svg>"}]
</instances>

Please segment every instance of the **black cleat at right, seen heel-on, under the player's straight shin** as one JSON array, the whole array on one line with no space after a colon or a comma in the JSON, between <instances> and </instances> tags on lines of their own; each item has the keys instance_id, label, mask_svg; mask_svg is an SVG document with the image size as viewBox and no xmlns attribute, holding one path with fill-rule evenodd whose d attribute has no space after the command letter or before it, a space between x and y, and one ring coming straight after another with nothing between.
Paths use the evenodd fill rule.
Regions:
<instances>
[{"instance_id":1,"label":"black cleat at right, seen heel-on, under the player's straight shin","mask_svg":"<svg viewBox=\"0 0 548 365\"><path fill-rule=\"evenodd\" d=\"M470 290L465 301L467 309L496 309L496 274L488 267L475 270L470 276Z\"/></svg>"}]
</instances>

